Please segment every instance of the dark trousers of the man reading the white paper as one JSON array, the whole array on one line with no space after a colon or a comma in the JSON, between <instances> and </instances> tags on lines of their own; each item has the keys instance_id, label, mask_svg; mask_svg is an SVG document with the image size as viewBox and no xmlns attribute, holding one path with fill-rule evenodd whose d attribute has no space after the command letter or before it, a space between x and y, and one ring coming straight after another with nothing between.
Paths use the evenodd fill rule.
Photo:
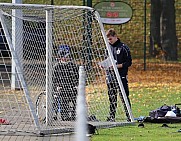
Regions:
<instances>
[{"instance_id":1,"label":"dark trousers of the man reading the white paper","mask_svg":"<svg viewBox=\"0 0 181 141\"><path fill-rule=\"evenodd\" d=\"M128 88L128 80L126 77L122 77L121 78L127 99L128 99L128 103L131 107L131 103L130 103L130 99L129 99L129 88ZM117 108L117 94L118 92L120 93L120 98L122 100L125 112L126 112L126 116L129 118L128 112L127 112L127 108L126 108L126 104L124 102L123 96L121 95L121 90L119 88L119 84L117 81L112 81L110 83L107 83L107 87L108 87L108 96L109 96L109 101L110 101L110 118L114 119L115 118L115 114L116 114L116 108Z\"/></svg>"}]
</instances>

